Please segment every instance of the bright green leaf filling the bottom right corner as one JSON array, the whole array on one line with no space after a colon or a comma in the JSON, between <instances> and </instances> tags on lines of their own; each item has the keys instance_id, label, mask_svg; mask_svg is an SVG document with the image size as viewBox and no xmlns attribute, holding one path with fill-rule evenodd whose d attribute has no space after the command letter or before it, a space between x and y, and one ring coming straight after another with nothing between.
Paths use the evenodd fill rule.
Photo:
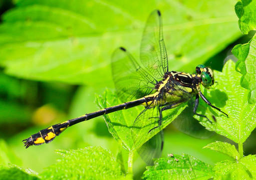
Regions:
<instances>
[{"instance_id":1,"label":"bright green leaf filling the bottom right corner","mask_svg":"<svg viewBox=\"0 0 256 180\"><path fill-rule=\"evenodd\" d=\"M214 179L255 179L256 157L247 155L240 160L225 160L218 162L214 167Z\"/></svg>"}]
</instances>

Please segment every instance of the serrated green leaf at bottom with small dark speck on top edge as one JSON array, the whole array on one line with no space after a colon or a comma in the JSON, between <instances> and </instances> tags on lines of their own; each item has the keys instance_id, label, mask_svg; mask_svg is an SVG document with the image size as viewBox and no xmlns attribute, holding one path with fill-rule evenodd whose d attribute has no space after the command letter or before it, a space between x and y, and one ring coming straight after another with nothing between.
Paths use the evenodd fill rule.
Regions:
<instances>
[{"instance_id":1,"label":"serrated green leaf at bottom with small dark speck on top edge","mask_svg":"<svg viewBox=\"0 0 256 180\"><path fill-rule=\"evenodd\" d=\"M144 179L208 179L213 176L212 166L188 154L155 159L147 166Z\"/></svg>"}]
</instances>

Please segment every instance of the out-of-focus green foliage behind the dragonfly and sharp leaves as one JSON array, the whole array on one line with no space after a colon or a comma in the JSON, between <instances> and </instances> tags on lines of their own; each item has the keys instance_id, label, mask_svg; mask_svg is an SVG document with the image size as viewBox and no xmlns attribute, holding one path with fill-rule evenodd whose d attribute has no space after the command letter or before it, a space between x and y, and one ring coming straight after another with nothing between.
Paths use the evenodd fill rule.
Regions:
<instances>
[{"instance_id":1,"label":"out-of-focus green foliage behind the dragonfly and sharp leaves","mask_svg":"<svg viewBox=\"0 0 256 180\"><path fill-rule=\"evenodd\" d=\"M41 172L56 162L55 149L119 144L102 117L68 128L54 142L23 147L22 140L52 124L98 110L95 93L114 90L110 59L125 46L136 59L149 13L160 9L170 70L194 73L203 63L221 70L242 36L232 0L0 0L0 163ZM134 117L135 119L136 117ZM220 135L198 139L169 125L163 156L187 153L206 163L228 158L202 149ZM256 133L244 144L255 154ZM229 141L230 142L230 141ZM210 154L210 155L209 155ZM123 152L127 159L127 152ZM145 163L138 157L134 172Z\"/></svg>"}]
</instances>

